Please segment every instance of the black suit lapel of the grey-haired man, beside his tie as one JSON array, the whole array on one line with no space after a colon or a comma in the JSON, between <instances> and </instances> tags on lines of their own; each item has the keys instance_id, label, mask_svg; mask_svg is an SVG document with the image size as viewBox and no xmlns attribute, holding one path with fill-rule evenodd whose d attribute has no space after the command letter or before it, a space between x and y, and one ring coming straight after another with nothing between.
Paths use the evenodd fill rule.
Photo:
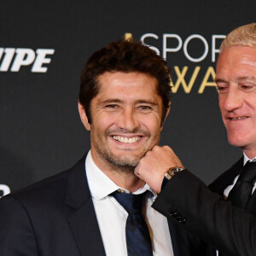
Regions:
<instances>
[{"instance_id":1,"label":"black suit lapel of the grey-haired man, beside his tie","mask_svg":"<svg viewBox=\"0 0 256 256\"><path fill-rule=\"evenodd\" d=\"M233 183L235 177L241 172L242 166L243 157L241 157L234 166L231 166L228 171L224 172L213 183L211 183L209 185L209 189L223 196L224 189Z\"/></svg>"}]
</instances>

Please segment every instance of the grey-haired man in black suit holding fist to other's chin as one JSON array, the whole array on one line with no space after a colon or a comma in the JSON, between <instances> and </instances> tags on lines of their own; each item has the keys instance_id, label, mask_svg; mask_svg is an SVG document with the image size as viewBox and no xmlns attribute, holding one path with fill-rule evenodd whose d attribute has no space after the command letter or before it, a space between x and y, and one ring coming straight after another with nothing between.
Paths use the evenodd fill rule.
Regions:
<instances>
[{"instance_id":1,"label":"grey-haired man in black suit holding fist to other's chin","mask_svg":"<svg viewBox=\"0 0 256 256\"><path fill-rule=\"evenodd\" d=\"M148 152L135 172L161 191L155 209L218 250L206 255L252 256L256 255L256 23L238 27L224 39L216 84L229 142L242 149L243 157L209 186L212 190L184 170L168 147Z\"/></svg>"}]
</instances>

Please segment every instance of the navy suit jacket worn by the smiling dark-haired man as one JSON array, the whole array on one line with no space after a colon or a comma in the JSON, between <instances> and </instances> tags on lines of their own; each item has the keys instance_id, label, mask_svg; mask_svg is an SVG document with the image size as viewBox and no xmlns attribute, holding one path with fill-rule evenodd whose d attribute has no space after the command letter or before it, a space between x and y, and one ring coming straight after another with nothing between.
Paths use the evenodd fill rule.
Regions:
<instances>
[{"instance_id":1,"label":"navy suit jacket worn by the smiling dark-haired man","mask_svg":"<svg viewBox=\"0 0 256 256\"><path fill-rule=\"evenodd\" d=\"M169 220L175 256L197 255ZM195 246L196 247L196 246ZM0 200L1 256L105 255L84 171L73 168Z\"/></svg>"}]
</instances>

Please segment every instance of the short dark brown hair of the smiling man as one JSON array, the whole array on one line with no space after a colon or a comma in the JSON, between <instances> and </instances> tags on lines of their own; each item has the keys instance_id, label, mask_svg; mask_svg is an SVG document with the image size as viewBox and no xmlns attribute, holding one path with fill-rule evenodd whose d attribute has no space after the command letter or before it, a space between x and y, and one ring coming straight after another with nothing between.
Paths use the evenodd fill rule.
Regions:
<instances>
[{"instance_id":1,"label":"short dark brown hair of the smiling man","mask_svg":"<svg viewBox=\"0 0 256 256\"><path fill-rule=\"evenodd\" d=\"M81 74L79 102L91 123L90 102L99 91L99 77L106 72L145 73L158 82L158 93L163 101L162 123L171 99L170 69L153 49L132 39L119 39L90 56Z\"/></svg>"}]
</instances>

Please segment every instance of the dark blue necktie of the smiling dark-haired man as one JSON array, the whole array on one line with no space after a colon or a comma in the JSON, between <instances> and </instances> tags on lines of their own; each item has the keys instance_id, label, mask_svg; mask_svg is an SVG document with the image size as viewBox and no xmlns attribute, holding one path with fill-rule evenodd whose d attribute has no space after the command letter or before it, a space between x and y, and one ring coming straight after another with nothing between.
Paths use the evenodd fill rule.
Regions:
<instances>
[{"instance_id":1,"label":"dark blue necktie of the smiling dark-haired man","mask_svg":"<svg viewBox=\"0 0 256 256\"><path fill-rule=\"evenodd\" d=\"M142 213L146 193L133 195L115 191L111 194L129 214L125 226L128 256L153 255L148 226Z\"/></svg>"}]
</instances>

